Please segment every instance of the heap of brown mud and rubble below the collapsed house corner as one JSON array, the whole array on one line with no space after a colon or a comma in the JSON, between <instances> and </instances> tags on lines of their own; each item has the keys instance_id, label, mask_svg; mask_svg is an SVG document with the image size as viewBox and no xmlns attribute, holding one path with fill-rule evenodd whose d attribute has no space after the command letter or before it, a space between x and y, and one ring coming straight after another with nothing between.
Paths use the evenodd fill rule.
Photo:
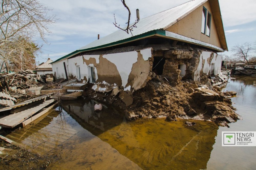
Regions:
<instances>
[{"instance_id":1,"label":"heap of brown mud and rubble below the collapsed house corner","mask_svg":"<svg viewBox=\"0 0 256 170\"><path fill-rule=\"evenodd\" d=\"M119 95L111 96L111 92L100 93L89 87L86 94L100 102L119 106L128 120L166 117L169 121L175 121L177 118L210 120L220 126L228 126L227 123L240 119L234 112L236 109L231 106L231 99L226 98L220 90L211 88L215 91L194 81L180 81L171 85L166 79L156 76L148 81L144 88L134 93L120 90ZM130 106L124 104L120 98L121 94L132 96Z\"/></svg>"}]
</instances>

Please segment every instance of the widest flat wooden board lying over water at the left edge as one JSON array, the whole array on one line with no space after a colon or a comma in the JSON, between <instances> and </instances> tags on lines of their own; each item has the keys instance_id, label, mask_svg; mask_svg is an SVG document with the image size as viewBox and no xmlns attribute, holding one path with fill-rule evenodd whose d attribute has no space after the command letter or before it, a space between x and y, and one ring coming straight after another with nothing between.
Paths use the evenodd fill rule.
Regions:
<instances>
[{"instance_id":1,"label":"widest flat wooden board lying over water at the left edge","mask_svg":"<svg viewBox=\"0 0 256 170\"><path fill-rule=\"evenodd\" d=\"M22 110L15 114L7 115L0 119L0 126L7 127L7 128L13 128L17 126L18 124L24 122L26 119L31 117L33 114L41 110L42 108L45 108L52 102L54 102L56 99L50 99L43 103L40 103L34 107L31 107L26 110Z\"/></svg>"}]
</instances>

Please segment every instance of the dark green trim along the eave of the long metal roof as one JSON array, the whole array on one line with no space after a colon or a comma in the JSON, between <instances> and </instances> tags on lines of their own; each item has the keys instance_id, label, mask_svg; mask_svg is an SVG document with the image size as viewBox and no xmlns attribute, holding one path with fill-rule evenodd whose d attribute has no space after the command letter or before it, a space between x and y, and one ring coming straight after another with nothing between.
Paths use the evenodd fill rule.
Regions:
<instances>
[{"instance_id":1,"label":"dark green trim along the eave of the long metal roof","mask_svg":"<svg viewBox=\"0 0 256 170\"><path fill-rule=\"evenodd\" d=\"M137 39L141 39L143 37L148 37L148 36L153 36L155 34L159 34L159 35L164 35L165 36L165 31L160 29L160 30L153 30L153 31L149 31L149 32L146 32L146 33L143 33L143 34L140 34L140 35L135 35L135 36L132 36L130 38L126 38L124 40L120 40L120 41L116 41L116 42L112 42L112 43L109 43L109 44L104 44L104 45L100 45L100 46L96 46L96 47L92 47L92 48L87 48L87 49L81 49L81 50L76 50L70 54L67 54L66 56L63 56L57 60L55 60L54 62L51 62L52 63L55 63L55 62L58 62L62 59L65 59L65 58L68 58L70 56L73 56L73 55L76 55L76 54L79 54L81 52L85 52L85 51L90 51L90 50L95 50L95 49L100 49L100 48L106 48L106 47L109 47L109 46L115 46L115 45L119 45L119 44L123 44L123 43L126 43L126 42L131 42L131 41L135 41Z\"/></svg>"}]
</instances>

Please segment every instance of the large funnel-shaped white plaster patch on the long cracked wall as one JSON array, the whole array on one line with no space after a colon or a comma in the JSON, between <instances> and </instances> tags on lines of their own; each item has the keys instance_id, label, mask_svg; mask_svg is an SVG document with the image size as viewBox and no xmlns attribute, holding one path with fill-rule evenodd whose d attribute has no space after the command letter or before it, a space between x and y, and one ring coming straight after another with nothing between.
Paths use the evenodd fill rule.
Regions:
<instances>
[{"instance_id":1,"label":"large funnel-shaped white plaster patch on the long cracked wall","mask_svg":"<svg viewBox=\"0 0 256 170\"><path fill-rule=\"evenodd\" d=\"M150 53L151 56L151 53ZM102 56L116 65L116 68L122 79L122 86L125 87L129 75L132 71L132 65L137 62L137 51L130 51L125 53L106 54Z\"/></svg>"}]
</instances>

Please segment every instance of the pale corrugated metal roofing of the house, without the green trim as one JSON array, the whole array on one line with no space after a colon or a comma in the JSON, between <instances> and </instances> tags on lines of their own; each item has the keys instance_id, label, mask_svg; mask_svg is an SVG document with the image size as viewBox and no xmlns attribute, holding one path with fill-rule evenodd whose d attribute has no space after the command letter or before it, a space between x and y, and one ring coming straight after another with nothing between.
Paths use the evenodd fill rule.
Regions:
<instances>
[{"instance_id":1,"label":"pale corrugated metal roofing of the house, without the green trim","mask_svg":"<svg viewBox=\"0 0 256 170\"><path fill-rule=\"evenodd\" d=\"M136 36L152 30L159 30L169 27L170 25L173 25L174 23L188 15L190 12L192 12L194 9L196 9L198 6L202 5L206 1L207 0L189 1L179 6L173 7L171 9L159 12L150 17L143 18L136 24L137 28L133 28L132 34L133 36ZM132 34L127 34L123 30L118 30L84 47L81 47L79 50L93 48L109 44L112 42L124 40L132 37Z\"/></svg>"}]
</instances>

